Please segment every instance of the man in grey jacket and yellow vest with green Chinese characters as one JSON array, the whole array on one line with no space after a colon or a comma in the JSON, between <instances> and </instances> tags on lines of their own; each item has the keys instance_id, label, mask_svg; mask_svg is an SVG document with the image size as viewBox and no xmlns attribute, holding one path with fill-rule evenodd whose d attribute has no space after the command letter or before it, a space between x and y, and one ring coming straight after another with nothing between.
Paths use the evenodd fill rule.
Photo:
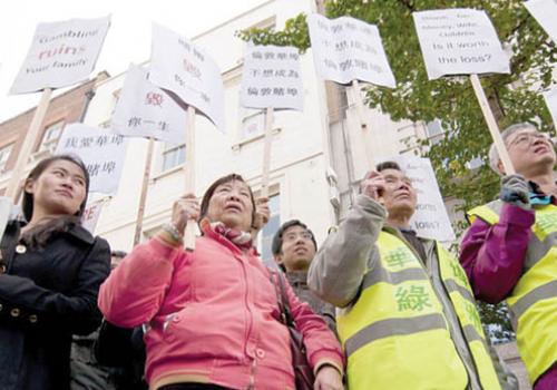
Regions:
<instances>
[{"instance_id":1,"label":"man in grey jacket and yellow vest with green Chinese characters","mask_svg":"<svg viewBox=\"0 0 557 390\"><path fill-rule=\"evenodd\" d=\"M362 194L310 266L336 329L350 389L500 389L466 274L410 228L416 191L395 163Z\"/></svg>"}]
</instances>

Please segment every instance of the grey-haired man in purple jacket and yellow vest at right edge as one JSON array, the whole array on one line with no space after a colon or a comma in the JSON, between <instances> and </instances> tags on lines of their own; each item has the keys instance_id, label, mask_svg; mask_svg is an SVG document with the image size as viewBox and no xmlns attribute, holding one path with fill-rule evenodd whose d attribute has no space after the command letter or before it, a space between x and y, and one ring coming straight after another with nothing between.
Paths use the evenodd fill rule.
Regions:
<instances>
[{"instance_id":1,"label":"grey-haired man in purple jacket and yellow vest at right edge","mask_svg":"<svg viewBox=\"0 0 557 390\"><path fill-rule=\"evenodd\" d=\"M557 389L557 185L549 137L529 124L502 134L517 175L501 179L500 198L469 212L461 245L475 295L507 300L518 350L536 390ZM505 175L495 146L490 165Z\"/></svg>"}]
</instances>

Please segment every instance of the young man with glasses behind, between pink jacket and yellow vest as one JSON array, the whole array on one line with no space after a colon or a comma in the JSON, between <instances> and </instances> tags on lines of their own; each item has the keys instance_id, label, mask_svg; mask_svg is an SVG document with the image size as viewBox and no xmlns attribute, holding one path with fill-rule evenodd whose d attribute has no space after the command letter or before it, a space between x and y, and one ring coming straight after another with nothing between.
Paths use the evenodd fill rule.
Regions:
<instances>
[{"instance_id":1,"label":"young man with glasses behind, between pink jacket and yellow vest","mask_svg":"<svg viewBox=\"0 0 557 390\"><path fill-rule=\"evenodd\" d=\"M334 306L320 300L307 287L307 269L317 251L312 231L299 220L289 221L276 231L271 250L296 296L306 302L335 332Z\"/></svg>"}]
</instances>

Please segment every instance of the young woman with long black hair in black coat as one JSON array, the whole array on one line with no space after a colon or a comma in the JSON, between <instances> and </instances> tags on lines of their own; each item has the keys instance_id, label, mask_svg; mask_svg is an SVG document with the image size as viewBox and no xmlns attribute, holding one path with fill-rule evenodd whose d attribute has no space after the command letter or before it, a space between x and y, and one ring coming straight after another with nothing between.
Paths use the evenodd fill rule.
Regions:
<instances>
[{"instance_id":1,"label":"young woman with long black hair in black coat","mask_svg":"<svg viewBox=\"0 0 557 390\"><path fill-rule=\"evenodd\" d=\"M41 160L25 182L26 221L10 221L0 259L0 389L69 389L72 334L100 324L108 243L80 223L89 188L70 155Z\"/></svg>"}]
</instances>

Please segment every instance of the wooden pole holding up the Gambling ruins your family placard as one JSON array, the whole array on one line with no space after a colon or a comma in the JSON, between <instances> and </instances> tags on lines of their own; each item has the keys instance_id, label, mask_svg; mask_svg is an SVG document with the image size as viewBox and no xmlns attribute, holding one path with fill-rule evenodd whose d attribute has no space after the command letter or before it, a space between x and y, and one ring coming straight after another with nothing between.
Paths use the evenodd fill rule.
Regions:
<instances>
[{"instance_id":1,"label":"wooden pole holding up the Gambling ruins your family placard","mask_svg":"<svg viewBox=\"0 0 557 390\"><path fill-rule=\"evenodd\" d=\"M8 183L6 195L8 197L11 197L14 203L17 203L16 197L18 196L20 189L21 175L23 174L27 162L29 160L29 156L31 155L32 147L37 140L37 136L39 135L39 130L42 125L42 120L45 119L45 115L47 114L51 95L52 88L45 88L42 90L42 96L40 98L39 105L37 106L37 109L35 110L29 130L26 134L23 144L21 145L21 149L19 150L18 160L16 162L10 182Z\"/></svg>"}]
</instances>

